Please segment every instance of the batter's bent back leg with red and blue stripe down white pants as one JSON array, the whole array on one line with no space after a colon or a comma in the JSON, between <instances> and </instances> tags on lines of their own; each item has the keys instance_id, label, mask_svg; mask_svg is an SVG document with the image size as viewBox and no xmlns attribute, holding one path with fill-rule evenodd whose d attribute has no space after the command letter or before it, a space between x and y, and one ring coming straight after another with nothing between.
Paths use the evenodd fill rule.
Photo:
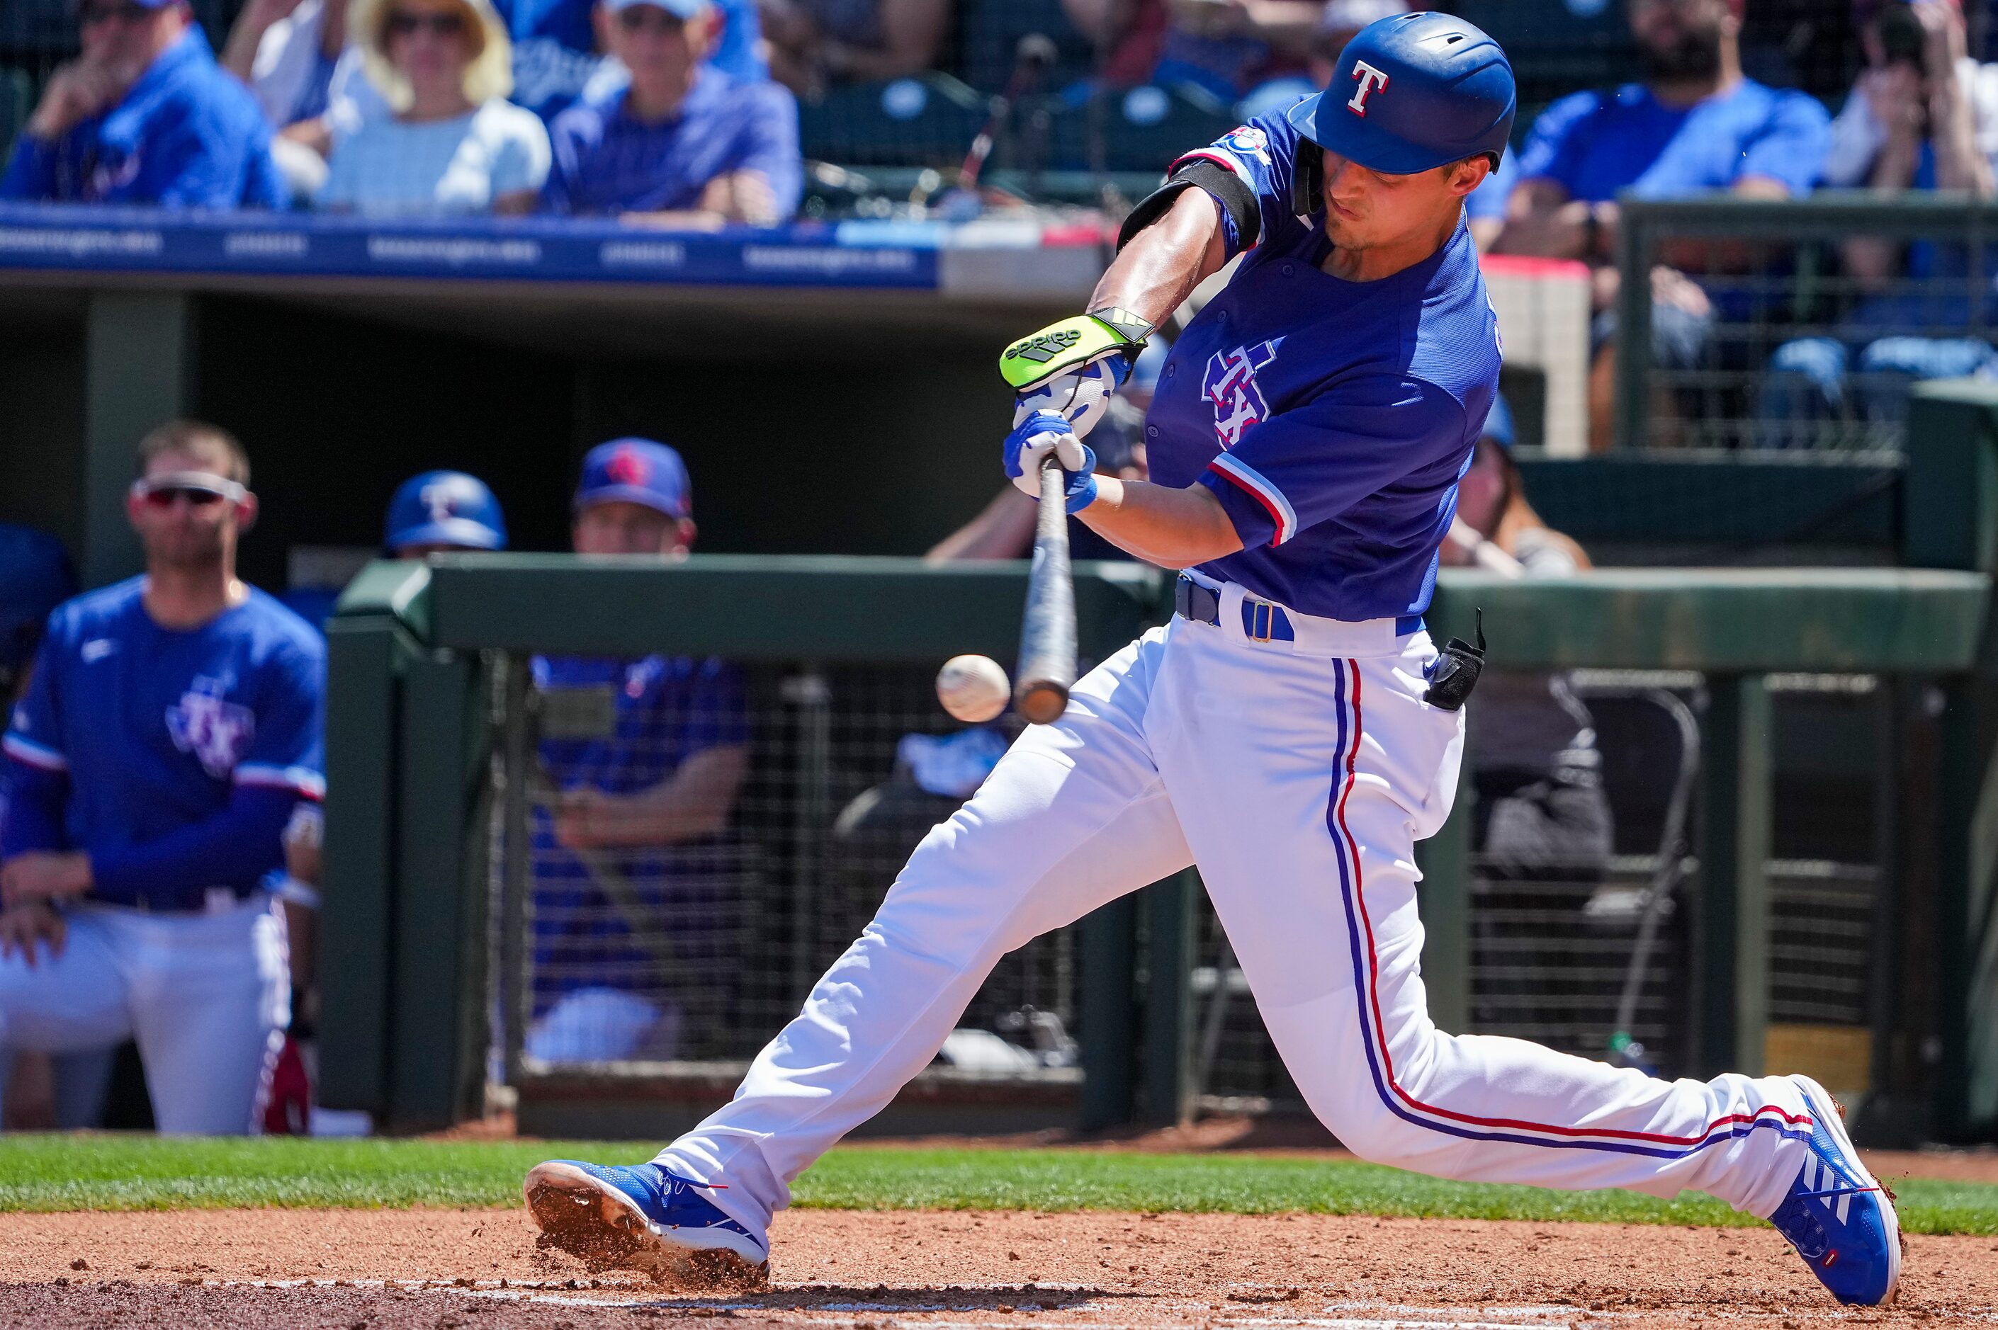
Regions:
<instances>
[{"instance_id":1,"label":"batter's bent back leg with red and blue stripe down white pants","mask_svg":"<svg viewBox=\"0 0 1998 1330\"><path fill-rule=\"evenodd\" d=\"M1187 839L1307 1102L1379 1162L1770 1214L1810 1134L1796 1082L1666 1082L1431 1022L1415 841L1449 813L1461 739L1419 701L1427 643L1405 641L1309 659L1205 629L1153 705Z\"/></svg>"}]
</instances>

